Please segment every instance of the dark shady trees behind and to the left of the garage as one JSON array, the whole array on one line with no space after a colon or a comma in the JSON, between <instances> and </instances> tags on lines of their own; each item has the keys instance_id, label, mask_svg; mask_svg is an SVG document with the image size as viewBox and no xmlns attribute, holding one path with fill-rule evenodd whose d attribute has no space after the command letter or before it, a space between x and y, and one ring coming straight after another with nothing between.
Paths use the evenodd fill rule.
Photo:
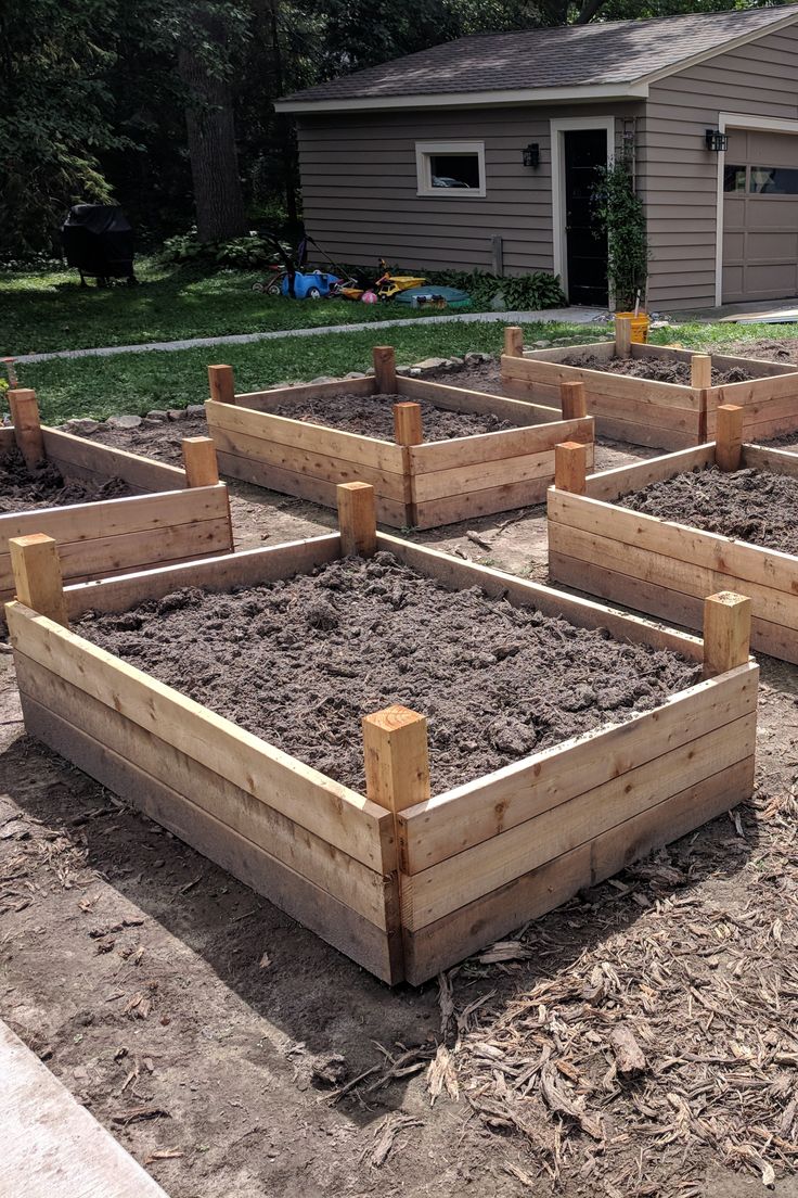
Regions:
<instances>
[{"instance_id":1,"label":"dark shady trees behind and to the left of the garage","mask_svg":"<svg viewBox=\"0 0 798 1198\"><path fill-rule=\"evenodd\" d=\"M778 7L787 0L4 0L0 255L66 208L120 202L153 235L221 240L296 216L273 99L463 34Z\"/></svg>"}]
</instances>

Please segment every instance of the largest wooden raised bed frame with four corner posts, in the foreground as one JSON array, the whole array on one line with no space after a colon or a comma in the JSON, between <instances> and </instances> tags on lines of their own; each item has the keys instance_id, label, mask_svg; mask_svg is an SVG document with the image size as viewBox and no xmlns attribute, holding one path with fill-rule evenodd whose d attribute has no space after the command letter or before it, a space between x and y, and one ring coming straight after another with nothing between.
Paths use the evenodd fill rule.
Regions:
<instances>
[{"instance_id":1,"label":"largest wooden raised bed frame with four corner posts, in the foreground","mask_svg":"<svg viewBox=\"0 0 798 1198\"><path fill-rule=\"evenodd\" d=\"M701 642L378 534L366 484L343 485L339 510L340 533L63 591L54 543L14 541L19 601L7 619L29 733L391 984L433 978L751 794L748 599L707 599ZM184 586L229 592L376 551L456 594L477 587L675 651L699 664L699 680L432 797L426 719L391 706L363 721L364 794L63 627Z\"/></svg>"}]
</instances>

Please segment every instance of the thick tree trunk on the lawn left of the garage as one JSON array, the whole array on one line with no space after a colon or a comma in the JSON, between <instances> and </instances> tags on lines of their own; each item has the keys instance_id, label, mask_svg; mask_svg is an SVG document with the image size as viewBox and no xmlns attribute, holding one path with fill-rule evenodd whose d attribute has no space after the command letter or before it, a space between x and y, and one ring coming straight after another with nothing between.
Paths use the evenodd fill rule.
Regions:
<instances>
[{"instance_id":1,"label":"thick tree trunk on the lawn left of the garage","mask_svg":"<svg viewBox=\"0 0 798 1198\"><path fill-rule=\"evenodd\" d=\"M220 32L201 23L209 41L220 46ZM244 199L238 176L236 126L230 84L208 66L191 44L190 36L178 50L181 79L189 92L185 109L191 159L196 228L200 241L227 241L246 231Z\"/></svg>"}]
</instances>

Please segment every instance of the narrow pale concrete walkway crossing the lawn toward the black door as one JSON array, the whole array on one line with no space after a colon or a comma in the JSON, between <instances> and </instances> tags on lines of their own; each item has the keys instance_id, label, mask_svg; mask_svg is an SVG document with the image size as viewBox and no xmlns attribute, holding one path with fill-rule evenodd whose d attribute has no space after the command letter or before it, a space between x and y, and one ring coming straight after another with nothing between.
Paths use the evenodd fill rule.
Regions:
<instances>
[{"instance_id":1,"label":"narrow pale concrete walkway crossing the lawn toward the black door","mask_svg":"<svg viewBox=\"0 0 798 1198\"><path fill-rule=\"evenodd\" d=\"M322 337L324 333L361 333L364 329L407 328L413 325L485 325L501 321L505 325L541 325L565 321L569 325L592 325L607 317L605 308L547 308L543 311L468 311L457 315L415 316L406 320L367 320L357 325L323 325L321 328L273 329L268 333L233 333L227 337L193 337L185 341L145 341L141 345L109 345L102 350L56 350L51 353L22 353L14 362L50 362L53 358L106 358L114 353L145 353L194 350L211 345L248 345L251 341L273 341L281 337Z\"/></svg>"}]
</instances>

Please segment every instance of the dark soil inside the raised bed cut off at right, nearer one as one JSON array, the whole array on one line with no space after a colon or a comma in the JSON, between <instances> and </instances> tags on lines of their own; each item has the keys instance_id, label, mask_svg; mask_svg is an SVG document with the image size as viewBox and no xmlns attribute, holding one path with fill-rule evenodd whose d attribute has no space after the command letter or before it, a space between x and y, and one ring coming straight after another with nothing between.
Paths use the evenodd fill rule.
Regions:
<instances>
[{"instance_id":1,"label":"dark soil inside the raised bed cut off at right, nearer one","mask_svg":"<svg viewBox=\"0 0 798 1198\"><path fill-rule=\"evenodd\" d=\"M625 508L692 525L782 553L798 553L798 479L766 470L717 466L676 474L617 501Z\"/></svg>"}]
</instances>

